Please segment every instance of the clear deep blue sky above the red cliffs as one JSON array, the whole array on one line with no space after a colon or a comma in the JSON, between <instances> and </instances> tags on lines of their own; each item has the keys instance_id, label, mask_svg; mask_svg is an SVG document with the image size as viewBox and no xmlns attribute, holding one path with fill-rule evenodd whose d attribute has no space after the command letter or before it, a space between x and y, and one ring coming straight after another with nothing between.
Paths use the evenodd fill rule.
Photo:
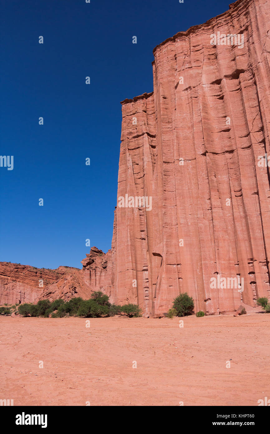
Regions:
<instances>
[{"instance_id":1,"label":"clear deep blue sky above the red cliffs","mask_svg":"<svg viewBox=\"0 0 270 434\"><path fill-rule=\"evenodd\" d=\"M229 3L2 0L0 261L81 268L86 238L111 248L120 101L153 91L156 45Z\"/></svg>"}]
</instances>

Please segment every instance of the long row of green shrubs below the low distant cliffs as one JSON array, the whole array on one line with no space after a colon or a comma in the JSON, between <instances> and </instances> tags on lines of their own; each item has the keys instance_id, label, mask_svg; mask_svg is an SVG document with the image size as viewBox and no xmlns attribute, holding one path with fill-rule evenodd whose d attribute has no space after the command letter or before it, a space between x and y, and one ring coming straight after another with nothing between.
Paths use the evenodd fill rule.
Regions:
<instances>
[{"instance_id":1,"label":"long row of green shrubs below the low distant cliffs","mask_svg":"<svg viewBox=\"0 0 270 434\"><path fill-rule=\"evenodd\" d=\"M49 315L52 318L63 318L65 316L100 318L114 315L127 315L132 318L141 316L141 309L135 304L126 304L124 306L111 304L108 296L101 291L95 291L89 300L75 297L67 302L57 299L53 302L39 300L37 304L20 304L18 313L23 316L43 316L45 318L48 318Z\"/></svg>"}]
</instances>

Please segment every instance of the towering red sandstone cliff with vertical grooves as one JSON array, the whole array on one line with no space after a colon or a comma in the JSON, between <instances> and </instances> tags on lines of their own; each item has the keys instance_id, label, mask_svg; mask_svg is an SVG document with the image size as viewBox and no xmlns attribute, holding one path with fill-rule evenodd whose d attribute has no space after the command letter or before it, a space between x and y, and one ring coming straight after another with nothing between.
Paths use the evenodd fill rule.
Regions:
<instances>
[{"instance_id":1,"label":"towering red sandstone cliff with vertical grooves","mask_svg":"<svg viewBox=\"0 0 270 434\"><path fill-rule=\"evenodd\" d=\"M154 91L122 102L115 302L162 316L185 291L210 314L270 296L269 28L269 0L232 4L157 46ZM211 45L218 32L244 45Z\"/></svg>"}]
</instances>

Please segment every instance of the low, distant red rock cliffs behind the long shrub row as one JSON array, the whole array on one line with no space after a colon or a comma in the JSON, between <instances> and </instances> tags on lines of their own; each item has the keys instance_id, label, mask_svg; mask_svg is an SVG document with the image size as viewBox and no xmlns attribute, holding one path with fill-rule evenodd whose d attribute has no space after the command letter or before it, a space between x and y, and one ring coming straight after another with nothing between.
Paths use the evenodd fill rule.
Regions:
<instances>
[{"instance_id":1,"label":"low, distant red rock cliffs behind the long shrub row","mask_svg":"<svg viewBox=\"0 0 270 434\"><path fill-rule=\"evenodd\" d=\"M82 270L67 266L48 270L0 262L0 305L36 303L42 299L89 299L91 293L98 290L111 297L111 252L104 253L91 247L81 262Z\"/></svg>"}]
</instances>

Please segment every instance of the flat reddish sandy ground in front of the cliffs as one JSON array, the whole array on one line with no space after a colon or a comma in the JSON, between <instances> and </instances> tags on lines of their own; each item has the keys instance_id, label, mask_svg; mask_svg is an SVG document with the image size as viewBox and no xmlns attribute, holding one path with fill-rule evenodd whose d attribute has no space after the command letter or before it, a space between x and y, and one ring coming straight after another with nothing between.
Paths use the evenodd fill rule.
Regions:
<instances>
[{"instance_id":1,"label":"flat reddish sandy ground in front of the cliffs","mask_svg":"<svg viewBox=\"0 0 270 434\"><path fill-rule=\"evenodd\" d=\"M2 317L0 398L19 406L270 398L270 314L182 319L183 328L179 318L96 318L86 328L78 318Z\"/></svg>"}]
</instances>

